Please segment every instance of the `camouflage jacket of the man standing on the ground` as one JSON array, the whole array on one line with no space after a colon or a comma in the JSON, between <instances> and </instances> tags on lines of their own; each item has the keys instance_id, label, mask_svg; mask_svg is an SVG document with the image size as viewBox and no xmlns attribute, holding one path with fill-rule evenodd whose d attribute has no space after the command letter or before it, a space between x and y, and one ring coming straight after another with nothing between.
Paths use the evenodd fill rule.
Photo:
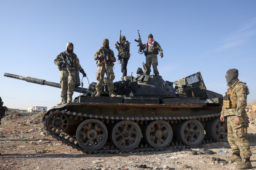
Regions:
<instances>
[{"instance_id":1,"label":"camouflage jacket of the man standing on the ground","mask_svg":"<svg viewBox=\"0 0 256 170\"><path fill-rule=\"evenodd\" d=\"M239 81L239 80L238 80ZM237 81L236 81L237 82ZM236 84L236 82L234 84ZM249 94L249 89L246 83L240 82L234 88L233 98L237 98L237 107L227 109L222 107L221 114L224 116L228 115L238 115L242 116L246 114L245 107L247 106L247 95Z\"/></svg>"}]
</instances>

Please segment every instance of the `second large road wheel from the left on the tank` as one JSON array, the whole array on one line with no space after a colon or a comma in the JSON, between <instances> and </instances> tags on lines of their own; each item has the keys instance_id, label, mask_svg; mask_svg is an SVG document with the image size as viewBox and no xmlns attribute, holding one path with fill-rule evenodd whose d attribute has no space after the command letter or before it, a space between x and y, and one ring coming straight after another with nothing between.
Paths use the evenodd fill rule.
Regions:
<instances>
[{"instance_id":1,"label":"second large road wheel from the left on the tank","mask_svg":"<svg viewBox=\"0 0 256 170\"><path fill-rule=\"evenodd\" d=\"M141 140L141 130L134 121L124 120L112 127L111 140L121 150L136 148Z\"/></svg>"}]
</instances>

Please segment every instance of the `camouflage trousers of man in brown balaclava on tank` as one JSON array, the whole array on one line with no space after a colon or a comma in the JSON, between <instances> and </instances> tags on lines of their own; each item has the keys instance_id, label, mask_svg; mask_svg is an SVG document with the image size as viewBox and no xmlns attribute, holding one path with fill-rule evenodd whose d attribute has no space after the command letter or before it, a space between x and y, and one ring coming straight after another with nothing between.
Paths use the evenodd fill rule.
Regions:
<instances>
[{"instance_id":1,"label":"camouflage trousers of man in brown balaclava on tank","mask_svg":"<svg viewBox=\"0 0 256 170\"><path fill-rule=\"evenodd\" d=\"M107 74L106 67L104 65L98 66L97 73L96 73L97 74L96 80L98 80L97 85L96 85L97 92L101 92L102 82L103 82L105 73ZM113 92L113 90L114 90L113 80L115 79L115 75L114 75L112 66L108 66L108 76L106 76L106 77L108 80L108 92Z\"/></svg>"}]
</instances>

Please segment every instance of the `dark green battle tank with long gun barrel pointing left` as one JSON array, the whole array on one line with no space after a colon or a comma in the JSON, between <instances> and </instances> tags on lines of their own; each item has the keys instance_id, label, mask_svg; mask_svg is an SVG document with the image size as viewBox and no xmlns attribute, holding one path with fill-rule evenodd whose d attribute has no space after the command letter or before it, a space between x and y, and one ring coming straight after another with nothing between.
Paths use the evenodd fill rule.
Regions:
<instances>
[{"instance_id":1,"label":"dark green battle tank with long gun barrel pointing left","mask_svg":"<svg viewBox=\"0 0 256 170\"><path fill-rule=\"evenodd\" d=\"M170 82L162 76L125 76L114 82L117 97L108 97L96 82L74 102L55 106L43 119L43 129L67 146L84 153L158 151L227 141L227 120L220 121L221 94L206 90L200 72ZM61 88L46 80L4 73L41 85Z\"/></svg>"}]
</instances>

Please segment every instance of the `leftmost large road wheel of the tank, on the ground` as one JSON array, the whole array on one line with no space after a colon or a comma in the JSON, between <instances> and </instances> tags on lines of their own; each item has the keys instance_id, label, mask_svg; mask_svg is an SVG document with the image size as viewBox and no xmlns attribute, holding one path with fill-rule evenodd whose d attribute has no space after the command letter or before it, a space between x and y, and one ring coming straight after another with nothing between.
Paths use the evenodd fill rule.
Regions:
<instances>
[{"instance_id":1,"label":"leftmost large road wheel of the tank, on the ground","mask_svg":"<svg viewBox=\"0 0 256 170\"><path fill-rule=\"evenodd\" d=\"M104 146L107 139L107 127L97 119L83 121L76 130L76 141L84 150L98 150Z\"/></svg>"}]
</instances>

